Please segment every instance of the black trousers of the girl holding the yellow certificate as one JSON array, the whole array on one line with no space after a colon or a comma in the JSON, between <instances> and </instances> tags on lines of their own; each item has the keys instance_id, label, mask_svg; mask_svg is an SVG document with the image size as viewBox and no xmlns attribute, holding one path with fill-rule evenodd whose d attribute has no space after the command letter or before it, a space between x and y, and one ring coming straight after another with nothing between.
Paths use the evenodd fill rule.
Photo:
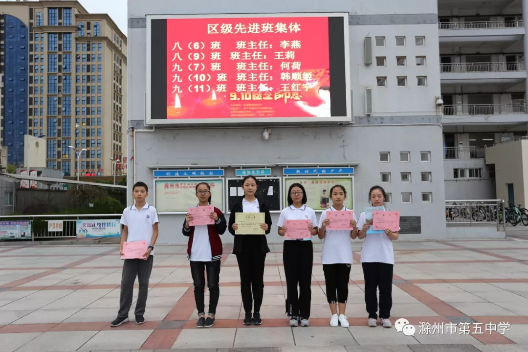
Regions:
<instances>
[{"instance_id":1,"label":"black trousers of the girl holding the yellow certificate","mask_svg":"<svg viewBox=\"0 0 528 352\"><path fill-rule=\"evenodd\" d=\"M264 262L266 253L260 251L244 251L237 254L240 270L240 292L244 311L260 312L264 296ZM254 301L254 302L253 302Z\"/></svg>"}]
</instances>

